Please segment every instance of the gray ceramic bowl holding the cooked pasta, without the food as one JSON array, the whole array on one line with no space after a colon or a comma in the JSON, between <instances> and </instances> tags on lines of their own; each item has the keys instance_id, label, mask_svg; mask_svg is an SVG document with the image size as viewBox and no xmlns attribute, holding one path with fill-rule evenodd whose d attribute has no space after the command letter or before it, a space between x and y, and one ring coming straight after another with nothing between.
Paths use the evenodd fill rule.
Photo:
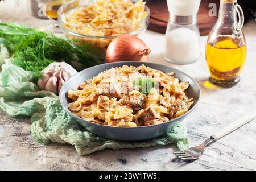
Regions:
<instances>
[{"instance_id":1,"label":"gray ceramic bowl holding the cooked pasta, without the food","mask_svg":"<svg viewBox=\"0 0 256 182\"><path fill-rule=\"evenodd\" d=\"M179 78L181 81L188 81L191 86L187 89L187 93L189 97L193 97L195 104L191 107L191 109L177 117L172 119L171 121L161 123L159 125L152 126L140 126L140 127L113 127L113 126L104 126L94 122L85 121L84 119L77 117L68 109L68 103L71 102L67 97L67 91L69 89L75 89L77 85L81 84L87 79L90 79L94 76L97 76L98 73L105 71L106 69L110 69L112 67L121 67L122 65L133 65L134 67L139 67L140 65L146 65L150 68L158 69L162 72L174 72L175 76ZM174 127L177 123L180 123L185 119L191 112L195 109L200 99L200 86L197 82L186 73L179 71L178 69L167 67L166 65L154 64L154 63L144 63L137 61L126 61L126 62L115 62L108 64L101 64L95 67L91 67L85 69L73 77L71 77L60 90L60 102L65 110L74 118L77 122L80 123L81 126L85 127L87 130L92 132L93 134L99 135L104 138L114 139L114 140L125 140L125 141L135 141L135 140L146 140L158 137L167 133L172 127Z\"/></svg>"}]
</instances>

